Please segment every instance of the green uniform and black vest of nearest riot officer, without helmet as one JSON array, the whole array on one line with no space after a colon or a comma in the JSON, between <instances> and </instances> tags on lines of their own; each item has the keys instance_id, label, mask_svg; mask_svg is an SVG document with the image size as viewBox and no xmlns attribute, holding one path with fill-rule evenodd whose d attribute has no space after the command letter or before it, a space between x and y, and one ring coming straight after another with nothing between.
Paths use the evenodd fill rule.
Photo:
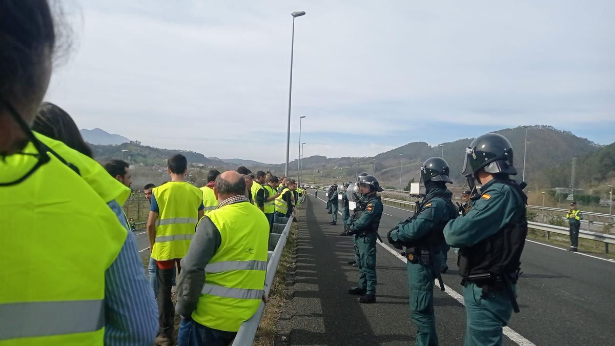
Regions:
<instances>
[{"instance_id":1,"label":"green uniform and black vest of nearest riot officer, without helmet","mask_svg":"<svg viewBox=\"0 0 615 346\"><path fill-rule=\"evenodd\" d=\"M502 327L517 308L518 260L527 235L526 196L513 180L490 180L481 191L464 217L446 225L444 236L447 244L460 248L465 345L501 345Z\"/></svg>"}]
</instances>

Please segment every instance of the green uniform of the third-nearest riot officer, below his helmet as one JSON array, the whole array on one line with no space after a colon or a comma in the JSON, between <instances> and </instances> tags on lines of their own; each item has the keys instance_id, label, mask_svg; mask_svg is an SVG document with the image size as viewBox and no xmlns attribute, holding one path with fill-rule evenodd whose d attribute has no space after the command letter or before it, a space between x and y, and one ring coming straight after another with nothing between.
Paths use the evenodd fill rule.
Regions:
<instances>
[{"instance_id":1,"label":"green uniform of the third-nearest riot officer, below his helmet","mask_svg":"<svg viewBox=\"0 0 615 346\"><path fill-rule=\"evenodd\" d=\"M383 214L383 203L376 193L367 195L364 211L356 211L350 220L350 231L354 234L357 267L360 270L359 289L368 295L376 295L376 239L378 226Z\"/></svg>"}]
</instances>

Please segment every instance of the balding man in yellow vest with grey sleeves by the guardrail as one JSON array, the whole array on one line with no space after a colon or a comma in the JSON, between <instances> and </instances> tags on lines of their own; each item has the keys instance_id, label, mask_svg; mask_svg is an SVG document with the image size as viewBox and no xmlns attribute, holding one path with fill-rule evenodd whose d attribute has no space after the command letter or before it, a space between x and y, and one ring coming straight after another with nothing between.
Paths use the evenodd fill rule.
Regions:
<instances>
[{"instance_id":1,"label":"balding man in yellow vest with grey sleeves by the guardrail","mask_svg":"<svg viewBox=\"0 0 615 346\"><path fill-rule=\"evenodd\" d=\"M237 172L216 179L220 204L197 226L177 288L178 345L229 345L263 298L268 222Z\"/></svg>"}]
</instances>

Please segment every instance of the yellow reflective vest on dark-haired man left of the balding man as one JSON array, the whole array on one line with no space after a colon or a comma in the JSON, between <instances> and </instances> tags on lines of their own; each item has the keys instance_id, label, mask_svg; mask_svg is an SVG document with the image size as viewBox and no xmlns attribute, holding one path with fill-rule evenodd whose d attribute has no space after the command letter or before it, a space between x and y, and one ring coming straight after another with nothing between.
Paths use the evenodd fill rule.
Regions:
<instances>
[{"instance_id":1,"label":"yellow reflective vest on dark-haired man left of the balding man","mask_svg":"<svg viewBox=\"0 0 615 346\"><path fill-rule=\"evenodd\" d=\"M181 259L199 222L203 192L188 182L168 182L153 188L152 193L159 208L152 258Z\"/></svg>"}]
</instances>

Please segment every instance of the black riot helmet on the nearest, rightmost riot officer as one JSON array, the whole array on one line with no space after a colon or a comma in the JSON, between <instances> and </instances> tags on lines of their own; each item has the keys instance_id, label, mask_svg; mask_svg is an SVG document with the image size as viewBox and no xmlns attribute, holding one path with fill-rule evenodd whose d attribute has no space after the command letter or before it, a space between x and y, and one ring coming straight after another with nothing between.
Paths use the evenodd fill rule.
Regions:
<instances>
[{"instance_id":1,"label":"black riot helmet on the nearest, rightmost riot officer","mask_svg":"<svg viewBox=\"0 0 615 346\"><path fill-rule=\"evenodd\" d=\"M512 145L503 135L485 134L466 148L462 174L474 175L480 169L487 173L517 174L513 166Z\"/></svg>"}]
</instances>

